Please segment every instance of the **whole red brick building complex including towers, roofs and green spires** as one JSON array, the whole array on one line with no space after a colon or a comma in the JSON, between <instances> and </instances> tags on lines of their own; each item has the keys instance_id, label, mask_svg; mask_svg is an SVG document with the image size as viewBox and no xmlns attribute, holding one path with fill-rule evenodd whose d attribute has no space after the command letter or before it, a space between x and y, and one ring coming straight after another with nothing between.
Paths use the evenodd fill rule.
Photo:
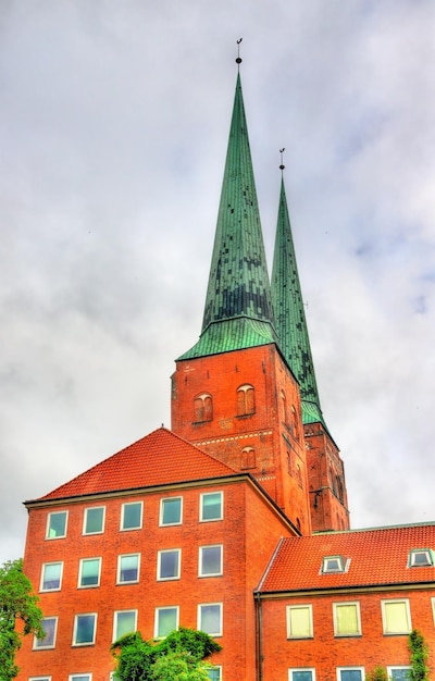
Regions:
<instances>
[{"instance_id":1,"label":"whole red brick building complex including towers, roofs and green spires","mask_svg":"<svg viewBox=\"0 0 435 681\"><path fill-rule=\"evenodd\" d=\"M223 649L222 681L396 680L432 648L435 525L351 531L322 414L282 181L271 281L237 76L199 340L162 428L26 502L45 614L21 681L109 681L110 645L178 626ZM433 661L432 661L433 664Z\"/></svg>"}]
</instances>

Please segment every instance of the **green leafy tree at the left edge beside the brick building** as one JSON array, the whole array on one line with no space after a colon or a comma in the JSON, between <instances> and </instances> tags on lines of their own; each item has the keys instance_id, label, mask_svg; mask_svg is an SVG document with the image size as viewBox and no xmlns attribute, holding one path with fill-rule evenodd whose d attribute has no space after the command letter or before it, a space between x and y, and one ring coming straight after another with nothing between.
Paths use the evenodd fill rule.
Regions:
<instances>
[{"instance_id":1,"label":"green leafy tree at the left edge beside the brick building","mask_svg":"<svg viewBox=\"0 0 435 681\"><path fill-rule=\"evenodd\" d=\"M37 603L38 597L23 572L23 560L5 562L0 568L0 681L12 681L20 671L15 654L22 645L22 636L45 635L42 612ZM15 630L17 620L22 622L21 633Z\"/></svg>"}]
</instances>

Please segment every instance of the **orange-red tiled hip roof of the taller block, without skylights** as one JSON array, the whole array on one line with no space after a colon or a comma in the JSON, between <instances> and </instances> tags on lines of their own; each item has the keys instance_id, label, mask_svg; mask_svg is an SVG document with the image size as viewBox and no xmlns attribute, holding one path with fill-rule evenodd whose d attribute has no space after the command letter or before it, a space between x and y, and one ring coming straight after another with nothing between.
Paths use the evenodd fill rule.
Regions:
<instances>
[{"instance_id":1,"label":"orange-red tiled hip roof of the taller block, without skylights","mask_svg":"<svg viewBox=\"0 0 435 681\"><path fill-rule=\"evenodd\" d=\"M234 474L234 470L165 428L125 447L35 499L62 499ZM27 502L32 504L32 502Z\"/></svg>"}]
</instances>

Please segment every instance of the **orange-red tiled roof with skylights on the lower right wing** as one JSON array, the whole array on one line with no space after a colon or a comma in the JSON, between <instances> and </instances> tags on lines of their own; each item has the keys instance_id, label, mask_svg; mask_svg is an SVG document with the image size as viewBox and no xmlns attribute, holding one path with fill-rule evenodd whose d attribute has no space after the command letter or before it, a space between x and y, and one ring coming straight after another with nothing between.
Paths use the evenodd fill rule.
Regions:
<instances>
[{"instance_id":1,"label":"orange-red tiled roof with skylights on the lower right wing","mask_svg":"<svg viewBox=\"0 0 435 681\"><path fill-rule=\"evenodd\" d=\"M435 567L408 567L411 549L435 548L435 523L319 533L282 540L259 591L295 592L433 582ZM347 571L322 574L343 556Z\"/></svg>"}]
</instances>

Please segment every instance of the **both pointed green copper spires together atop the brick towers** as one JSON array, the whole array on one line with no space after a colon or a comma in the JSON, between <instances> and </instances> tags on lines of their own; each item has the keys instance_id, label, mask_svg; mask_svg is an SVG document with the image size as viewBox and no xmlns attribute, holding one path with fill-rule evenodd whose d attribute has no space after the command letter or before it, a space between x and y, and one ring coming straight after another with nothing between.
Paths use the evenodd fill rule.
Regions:
<instances>
[{"instance_id":1,"label":"both pointed green copper spires together atop the brick towers","mask_svg":"<svg viewBox=\"0 0 435 681\"><path fill-rule=\"evenodd\" d=\"M284 169L283 162L281 168ZM270 343L277 345L300 384L303 422L323 422L284 181L282 178L271 285L240 74L237 73L201 335L178 359Z\"/></svg>"}]
</instances>

